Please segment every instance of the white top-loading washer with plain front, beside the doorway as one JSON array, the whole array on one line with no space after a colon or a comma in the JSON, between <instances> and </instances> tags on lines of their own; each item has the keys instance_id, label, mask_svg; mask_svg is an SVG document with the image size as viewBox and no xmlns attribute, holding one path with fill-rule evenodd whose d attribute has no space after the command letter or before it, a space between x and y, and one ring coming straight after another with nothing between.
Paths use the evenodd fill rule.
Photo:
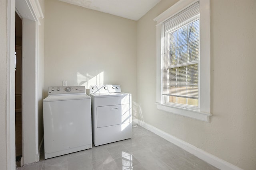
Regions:
<instances>
[{"instance_id":1,"label":"white top-loading washer with plain front, beside the doorway","mask_svg":"<svg viewBox=\"0 0 256 170\"><path fill-rule=\"evenodd\" d=\"M49 87L43 110L45 159L92 148L91 99L85 86Z\"/></svg>"}]
</instances>

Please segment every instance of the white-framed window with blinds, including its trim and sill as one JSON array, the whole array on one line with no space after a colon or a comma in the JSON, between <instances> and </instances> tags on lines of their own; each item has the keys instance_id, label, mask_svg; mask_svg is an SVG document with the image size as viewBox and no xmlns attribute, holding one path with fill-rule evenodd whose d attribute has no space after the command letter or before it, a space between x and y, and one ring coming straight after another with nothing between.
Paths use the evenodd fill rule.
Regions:
<instances>
[{"instance_id":1,"label":"white-framed window with blinds, including its trim and sill","mask_svg":"<svg viewBox=\"0 0 256 170\"><path fill-rule=\"evenodd\" d=\"M203 121L211 116L209 4L180 0L155 19L157 107Z\"/></svg>"}]
</instances>

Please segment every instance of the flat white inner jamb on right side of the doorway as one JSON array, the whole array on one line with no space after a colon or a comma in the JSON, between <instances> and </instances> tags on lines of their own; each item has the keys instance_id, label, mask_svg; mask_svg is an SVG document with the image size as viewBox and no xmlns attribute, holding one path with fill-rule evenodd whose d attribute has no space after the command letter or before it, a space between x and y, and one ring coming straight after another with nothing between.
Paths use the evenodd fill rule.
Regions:
<instances>
[{"instance_id":1,"label":"flat white inner jamb on right side of the doorway","mask_svg":"<svg viewBox=\"0 0 256 170\"><path fill-rule=\"evenodd\" d=\"M38 150L36 21L22 20L22 147L24 164L36 162Z\"/></svg>"}]
</instances>

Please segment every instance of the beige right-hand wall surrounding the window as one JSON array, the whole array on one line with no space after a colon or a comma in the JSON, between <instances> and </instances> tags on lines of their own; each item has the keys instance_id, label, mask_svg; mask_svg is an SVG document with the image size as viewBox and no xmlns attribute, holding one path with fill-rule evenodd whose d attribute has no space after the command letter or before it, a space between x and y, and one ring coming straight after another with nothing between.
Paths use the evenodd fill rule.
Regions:
<instances>
[{"instance_id":1,"label":"beige right-hand wall surrounding the window","mask_svg":"<svg viewBox=\"0 0 256 170\"><path fill-rule=\"evenodd\" d=\"M136 117L245 170L256 169L256 1L211 0L210 123L156 109L156 26L178 0L138 21ZM150 93L149 93L150 91Z\"/></svg>"}]
</instances>

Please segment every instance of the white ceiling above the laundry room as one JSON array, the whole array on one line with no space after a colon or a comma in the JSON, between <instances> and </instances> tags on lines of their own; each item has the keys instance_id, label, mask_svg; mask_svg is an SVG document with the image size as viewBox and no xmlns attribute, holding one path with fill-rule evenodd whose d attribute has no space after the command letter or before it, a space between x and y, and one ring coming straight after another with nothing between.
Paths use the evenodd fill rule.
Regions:
<instances>
[{"instance_id":1,"label":"white ceiling above the laundry room","mask_svg":"<svg viewBox=\"0 0 256 170\"><path fill-rule=\"evenodd\" d=\"M139 20L161 0L59 0L130 20Z\"/></svg>"}]
</instances>

